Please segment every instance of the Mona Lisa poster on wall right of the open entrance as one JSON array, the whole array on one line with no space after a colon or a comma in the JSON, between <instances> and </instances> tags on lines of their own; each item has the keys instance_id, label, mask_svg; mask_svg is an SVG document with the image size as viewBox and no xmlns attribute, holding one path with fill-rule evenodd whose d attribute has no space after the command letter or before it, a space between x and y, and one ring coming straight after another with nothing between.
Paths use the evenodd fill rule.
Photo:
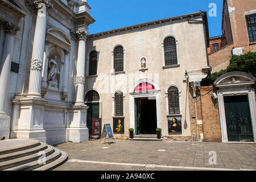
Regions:
<instances>
[{"instance_id":1,"label":"Mona Lisa poster on wall right of the open entrance","mask_svg":"<svg viewBox=\"0 0 256 182\"><path fill-rule=\"evenodd\" d=\"M168 117L169 135L181 135L181 117Z\"/></svg>"}]
</instances>

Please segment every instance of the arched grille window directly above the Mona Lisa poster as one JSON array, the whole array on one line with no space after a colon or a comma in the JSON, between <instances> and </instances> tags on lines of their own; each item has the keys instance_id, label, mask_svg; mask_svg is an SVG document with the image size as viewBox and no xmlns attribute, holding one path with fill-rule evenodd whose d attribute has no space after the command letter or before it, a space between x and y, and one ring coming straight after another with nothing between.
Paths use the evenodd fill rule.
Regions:
<instances>
[{"instance_id":1,"label":"arched grille window directly above the Mona Lisa poster","mask_svg":"<svg viewBox=\"0 0 256 182\"><path fill-rule=\"evenodd\" d=\"M169 114L180 114L179 90L175 86L168 89Z\"/></svg>"}]
</instances>

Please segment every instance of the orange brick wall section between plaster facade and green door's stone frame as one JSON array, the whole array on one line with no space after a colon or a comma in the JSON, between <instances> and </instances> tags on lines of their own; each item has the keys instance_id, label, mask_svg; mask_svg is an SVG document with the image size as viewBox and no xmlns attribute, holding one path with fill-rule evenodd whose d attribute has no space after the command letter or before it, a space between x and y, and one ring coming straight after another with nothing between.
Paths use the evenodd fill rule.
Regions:
<instances>
[{"instance_id":1,"label":"orange brick wall section between plaster facade and green door's stone frame","mask_svg":"<svg viewBox=\"0 0 256 182\"><path fill-rule=\"evenodd\" d=\"M189 92L191 104L191 118L193 139L197 140L196 110L193 93L197 94L197 129L199 140L221 142L220 117L218 113L218 102L212 98L213 86L201 86L192 88Z\"/></svg>"}]
</instances>

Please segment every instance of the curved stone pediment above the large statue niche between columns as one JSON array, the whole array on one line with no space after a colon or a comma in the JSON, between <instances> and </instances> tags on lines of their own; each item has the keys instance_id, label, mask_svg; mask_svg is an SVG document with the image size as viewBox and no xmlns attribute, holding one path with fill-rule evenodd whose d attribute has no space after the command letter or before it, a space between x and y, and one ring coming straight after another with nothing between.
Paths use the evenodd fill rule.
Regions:
<instances>
[{"instance_id":1,"label":"curved stone pediment above the large statue niche between columns","mask_svg":"<svg viewBox=\"0 0 256 182\"><path fill-rule=\"evenodd\" d=\"M46 40L70 52L71 40L68 35L59 28L48 28L46 31Z\"/></svg>"}]
</instances>

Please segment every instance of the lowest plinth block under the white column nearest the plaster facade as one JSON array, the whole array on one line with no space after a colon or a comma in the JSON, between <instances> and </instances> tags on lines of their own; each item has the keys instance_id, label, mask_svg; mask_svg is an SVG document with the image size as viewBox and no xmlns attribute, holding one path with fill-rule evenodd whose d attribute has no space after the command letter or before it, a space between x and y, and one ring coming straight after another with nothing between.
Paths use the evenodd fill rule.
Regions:
<instances>
[{"instance_id":1,"label":"lowest plinth block under the white column nearest the plaster facade","mask_svg":"<svg viewBox=\"0 0 256 182\"><path fill-rule=\"evenodd\" d=\"M67 129L67 136L68 141L67 142L85 142L89 140L89 129L88 127L84 128L69 128Z\"/></svg>"}]
</instances>

